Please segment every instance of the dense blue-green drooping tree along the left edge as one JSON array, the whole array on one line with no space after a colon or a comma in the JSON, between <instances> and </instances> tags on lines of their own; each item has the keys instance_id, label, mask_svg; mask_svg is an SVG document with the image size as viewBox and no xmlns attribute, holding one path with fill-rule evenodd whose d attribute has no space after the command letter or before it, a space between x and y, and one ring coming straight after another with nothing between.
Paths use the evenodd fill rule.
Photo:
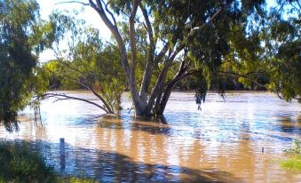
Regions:
<instances>
[{"instance_id":1,"label":"dense blue-green drooping tree along the left edge","mask_svg":"<svg viewBox=\"0 0 301 183\"><path fill-rule=\"evenodd\" d=\"M33 91L43 90L42 76L34 70L47 45L41 28L36 1L0 1L0 123L9 131L18 129L17 113Z\"/></svg>"}]
</instances>

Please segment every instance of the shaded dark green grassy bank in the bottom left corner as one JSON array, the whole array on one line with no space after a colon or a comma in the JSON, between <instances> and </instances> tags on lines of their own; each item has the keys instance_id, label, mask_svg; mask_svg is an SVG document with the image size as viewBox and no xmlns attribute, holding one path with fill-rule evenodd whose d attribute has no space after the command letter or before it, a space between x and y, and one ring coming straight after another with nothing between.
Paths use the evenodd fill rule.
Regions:
<instances>
[{"instance_id":1,"label":"shaded dark green grassy bank in the bottom left corner","mask_svg":"<svg viewBox=\"0 0 301 183\"><path fill-rule=\"evenodd\" d=\"M61 177L44 158L26 145L0 142L0 183L3 182L72 182L90 183L90 179Z\"/></svg>"}]
</instances>

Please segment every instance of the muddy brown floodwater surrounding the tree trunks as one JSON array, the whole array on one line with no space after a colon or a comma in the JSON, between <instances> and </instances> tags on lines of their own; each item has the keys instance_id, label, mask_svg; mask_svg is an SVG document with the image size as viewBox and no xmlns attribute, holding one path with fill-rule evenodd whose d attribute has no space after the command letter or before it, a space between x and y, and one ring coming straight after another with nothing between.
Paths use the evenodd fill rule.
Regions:
<instances>
[{"instance_id":1,"label":"muddy brown floodwater surrounding the tree trunks","mask_svg":"<svg viewBox=\"0 0 301 183\"><path fill-rule=\"evenodd\" d=\"M122 101L116 118L81 101L44 100L43 126L28 108L20 113L20 131L2 126L0 138L28 141L56 171L101 182L301 182L300 173L275 163L292 139L301 139L297 101L267 92L227 93L225 100L209 93L200 111L194 93L173 92L160 123L134 119L127 93ZM65 169L59 138L66 141Z\"/></svg>"}]
</instances>

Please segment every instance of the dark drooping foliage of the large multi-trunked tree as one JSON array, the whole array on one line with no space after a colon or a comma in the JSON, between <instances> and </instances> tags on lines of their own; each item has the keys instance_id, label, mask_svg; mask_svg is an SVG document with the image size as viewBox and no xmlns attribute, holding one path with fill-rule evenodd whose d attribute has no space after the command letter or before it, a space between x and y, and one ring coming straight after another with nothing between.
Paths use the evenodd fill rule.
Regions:
<instances>
[{"instance_id":1,"label":"dark drooping foliage of the large multi-trunked tree","mask_svg":"<svg viewBox=\"0 0 301 183\"><path fill-rule=\"evenodd\" d=\"M237 42L243 44L246 47L250 43L250 39L247 40L247 32L251 34L253 32L250 26L250 17L259 19L259 15L264 14L265 1L182 1L182 0L170 0L170 1L142 1L141 6L147 9L147 14L152 20L151 24L154 28L154 40L156 43L169 43L170 51L175 49L178 44L183 44L183 54L179 57L183 57L183 60L192 62L194 69L200 71L197 75L200 88L196 96L200 96L204 99L206 91L209 89L218 90L223 94L225 78L219 76L218 71L222 67L222 61L225 60L227 54L231 50L231 46L235 46L235 49L240 49L239 44L231 45L231 37L236 39ZM109 5L113 9L116 15L123 16L123 20L127 20L131 13L132 4L130 1L115 0L110 1ZM218 14L216 15L216 13ZM259 14L259 15L257 15ZM211 18L214 19L211 20ZM142 24L142 23L141 23ZM119 24L123 33L124 40L128 41L126 30L129 28L125 23ZM237 36L231 35L235 27L242 27L236 30L237 34L241 34L242 41ZM141 31L144 28L143 24L140 28L138 24L136 40L144 40L143 37L147 37L146 31ZM253 39L252 41L255 41ZM139 43L140 41L138 41ZM144 44L138 44L138 50L147 53L145 45L147 40L143 41ZM251 46L251 45L250 45ZM250 52L253 52L250 50ZM245 54L242 54L243 56ZM250 55L250 57L252 54ZM187 57L187 58L186 58ZM249 57L249 58L250 58ZM147 58L144 56L143 58ZM168 56L165 55L165 60ZM139 60L139 63L145 62ZM153 77L157 78L162 68L162 63L154 63ZM175 63L177 65L177 63ZM249 64L250 65L250 64ZM143 64L142 71L145 68ZM178 64L179 66L179 64ZM248 66L245 66L247 68ZM251 69L251 68L249 68ZM138 68L139 70L139 68ZM172 67L167 76L167 80L172 79L170 73L176 74ZM141 72L138 72L141 73ZM139 76L139 75L138 75ZM206 81L202 81L206 80ZM152 81L154 81L152 79ZM206 84L206 85L203 85ZM154 86L152 82L151 87ZM197 101L202 101L197 99Z\"/></svg>"}]
</instances>

